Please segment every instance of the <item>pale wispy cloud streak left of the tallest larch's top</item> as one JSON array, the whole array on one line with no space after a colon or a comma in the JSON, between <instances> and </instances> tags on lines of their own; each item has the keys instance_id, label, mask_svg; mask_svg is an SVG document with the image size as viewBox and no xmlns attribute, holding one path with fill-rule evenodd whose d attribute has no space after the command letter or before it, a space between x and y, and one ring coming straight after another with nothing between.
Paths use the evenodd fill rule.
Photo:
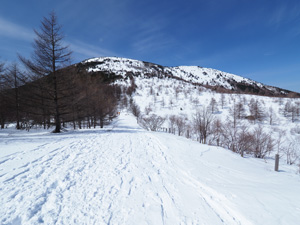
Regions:
<instances>
[{"instance_id":1,"label":"pale wispy cloud streak left of the tallest larch's top","mask_svg":"<svg viewBox=\"0 0 300 225\"><path fill-rule=\"evenodd\" d=\"M34 32L32 29L7 21L0 17L0 36L25 41L32 41Z\"/></svg>"}]
</instances>

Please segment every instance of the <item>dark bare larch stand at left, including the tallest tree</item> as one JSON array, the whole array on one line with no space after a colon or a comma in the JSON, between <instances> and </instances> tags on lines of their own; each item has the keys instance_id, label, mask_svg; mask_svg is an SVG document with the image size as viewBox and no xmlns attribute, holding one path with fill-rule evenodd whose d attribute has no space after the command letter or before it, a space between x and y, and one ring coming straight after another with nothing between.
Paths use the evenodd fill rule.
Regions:
<instances>
[{"instance_id":1,"label":"dark bare larch stand at left, including the tallest tree","mask_svg":"<svg viewBox=\"0 0 300 225\"><path fill-rule=\"evenodd\" d=\"M66 123L74 128L103 127L116 115L121 88L103 77L70 66L72 51L63 42L62 27L54 12L34 30L30 58L22 64L0 63L0 125L16 122L16 129L41 126L61 132Z\"/></svg>"}]
</instances>

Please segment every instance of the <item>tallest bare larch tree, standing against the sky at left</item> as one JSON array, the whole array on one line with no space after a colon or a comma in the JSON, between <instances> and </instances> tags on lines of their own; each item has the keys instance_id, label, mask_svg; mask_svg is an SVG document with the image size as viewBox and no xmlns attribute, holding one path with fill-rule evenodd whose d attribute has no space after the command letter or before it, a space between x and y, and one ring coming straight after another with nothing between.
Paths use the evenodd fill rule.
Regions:
<instances>
[{"instance_id":1,"label":"tallest bare larch tree, standing against the sky at left","mask_svg":"<svg viewBox=\"0 0 300 225\"><path fill-rule=\"evenodd\" d=\"M55 133L61 131L61 112L60 112L60 91L58 70L70 63L72 52L63 43L64 35L62 26L58 24L55 12L51 12L49 17L44 17L41 21L39 30L34 30L36 38L33 42L34 52L31 59L26 59L19 55L19 59L29 69L37 79L46 76L48 80L45 86L48 88L48 95L53 103L53 117L55 119ZM50 78L49 78L50 77Z\"/></svg>"}]
</instances>

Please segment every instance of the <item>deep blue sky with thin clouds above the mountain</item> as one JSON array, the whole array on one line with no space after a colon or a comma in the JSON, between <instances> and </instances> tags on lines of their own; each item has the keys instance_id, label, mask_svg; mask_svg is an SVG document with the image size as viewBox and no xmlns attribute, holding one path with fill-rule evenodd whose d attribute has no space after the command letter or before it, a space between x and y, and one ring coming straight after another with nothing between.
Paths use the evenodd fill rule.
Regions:
<instances>
[{"instance_id":1,"label":"deep blue sky with thin clouds above the mountain","mask_svg":"<svg viewBox=\"0 0 300 225\"><path fill-rule=\"evenodd\" d=\"M3 0L0 60L30 56L33 29L52 10L74 63L197 65L300 92L299 0Z\"/></svg>"}]
</instances>

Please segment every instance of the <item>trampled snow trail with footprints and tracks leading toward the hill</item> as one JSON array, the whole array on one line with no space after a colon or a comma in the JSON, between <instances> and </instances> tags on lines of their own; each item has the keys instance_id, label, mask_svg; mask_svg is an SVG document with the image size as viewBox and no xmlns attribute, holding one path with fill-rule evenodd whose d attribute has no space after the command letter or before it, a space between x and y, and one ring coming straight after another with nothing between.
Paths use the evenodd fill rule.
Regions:
<instances>
[{"instance_id":1,"label":"trampled snow trail with footprints and tracks leading toward the hill","mask_svg":"<svg viewBox=\"0 0 300 225\"><path fill-rule=\"evenodd\" d=\"M50 136L0 158L1 224L255 224L131 116Z\"/></svg>"}]
</instances>

